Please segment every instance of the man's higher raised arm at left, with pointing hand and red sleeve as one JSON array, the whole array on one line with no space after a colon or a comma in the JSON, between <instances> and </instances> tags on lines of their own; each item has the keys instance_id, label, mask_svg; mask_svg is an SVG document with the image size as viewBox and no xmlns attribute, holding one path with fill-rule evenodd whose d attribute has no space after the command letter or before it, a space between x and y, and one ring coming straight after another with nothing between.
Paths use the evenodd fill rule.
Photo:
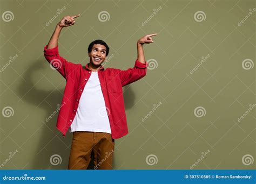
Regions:
<instances>
[{"instance_id":1,"label":"man's higher raised arm at left, with pointing hand and red sleeve","mask_svg":"<svg viewBox=\"0 0 256 184\"><path fill-rule=\"evenodd\" d=\"M55 31L53 32L51 39L44 47L44 56L45 59L50 63L50 65L58 70L58 72L66 79L68 77L68 73L70 70L70 65L74 65L72 62L69 62L62 58L59 55L58 51L58 39L60 32L62 31L63 27L68 27L75 24L75 19L77 16L66 16L56 25Z\"/></svg>"}]
</instances>

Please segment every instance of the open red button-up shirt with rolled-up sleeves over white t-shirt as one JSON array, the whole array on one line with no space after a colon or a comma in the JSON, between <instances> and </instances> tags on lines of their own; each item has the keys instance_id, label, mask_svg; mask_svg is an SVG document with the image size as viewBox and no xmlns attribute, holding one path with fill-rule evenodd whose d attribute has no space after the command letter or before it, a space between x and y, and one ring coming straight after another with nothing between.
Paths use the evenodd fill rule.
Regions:
<instances>
[{"instance_id":1,"label":"open red button-up shirt with rolled-up sleeves over white t-shirt","mask_svg":"<svg viewBox=\"0 0 256 184\"><path fill-rule=\"evenodd\" d=\"M75 118L79 100L91 76L91 70L88 68L89 63L83 67L80 63L75 64L62 58L59 55L58 46L47 49L46 45L44 56L51 66L66 79L56 125L64 137ZM113 139L118 139L128 133L122 87L142 79L146 75L147 65L147 62L142 63L136 60L134 67L127 70L99 67L98 76Z\"/></svg>"}]
</instances>

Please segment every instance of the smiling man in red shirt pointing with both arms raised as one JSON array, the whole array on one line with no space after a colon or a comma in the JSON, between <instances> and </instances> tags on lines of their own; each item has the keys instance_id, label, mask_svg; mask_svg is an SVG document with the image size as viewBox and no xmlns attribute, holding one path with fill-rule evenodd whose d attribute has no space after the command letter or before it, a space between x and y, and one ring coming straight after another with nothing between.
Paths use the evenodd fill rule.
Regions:
<instances>
[{"instance_id":1,"label":"smiling man in red shirt pointing with both arms raised","mask_svg":"<svg viewBox=\"0 0 256 184\"><path fill-rule=\"evenodd\" d=\"M109 47L103 40L89 45L90 62L83 67L65 60L58 52L60 31L74 25L79 16L60 20L44 47L46 60L66 79L57 129L63 137L69 129L73 132L69 169L86 169L91 155L95 169L112 169L114 139L128 133L122 87L146 75L143 44L153 43L152 36L157 34L137 41L138 58L133 68L105 69L101 64L109 54Z\"/></svg>"}]
</instances>

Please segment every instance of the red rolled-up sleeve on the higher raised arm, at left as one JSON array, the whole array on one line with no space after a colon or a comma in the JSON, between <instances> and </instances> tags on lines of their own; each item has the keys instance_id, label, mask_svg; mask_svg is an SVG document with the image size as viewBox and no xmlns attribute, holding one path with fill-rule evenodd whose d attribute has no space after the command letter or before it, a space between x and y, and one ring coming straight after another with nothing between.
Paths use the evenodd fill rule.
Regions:
<instances>
[{"instance_id":1,"label":"red rolled-up sleeve on the higher raised arm, at left","mask_svg":"<svg viewBox=\"0 0 256 184\"><path fill-rule=\"evenodd\" d=\"M58 46L55 48L48 49L48 45L44 47L44 57L55 68L65 79L69 75L71 65L75 65L72 62L67 61L59 55Z\"/></svg>"}]
</instances>

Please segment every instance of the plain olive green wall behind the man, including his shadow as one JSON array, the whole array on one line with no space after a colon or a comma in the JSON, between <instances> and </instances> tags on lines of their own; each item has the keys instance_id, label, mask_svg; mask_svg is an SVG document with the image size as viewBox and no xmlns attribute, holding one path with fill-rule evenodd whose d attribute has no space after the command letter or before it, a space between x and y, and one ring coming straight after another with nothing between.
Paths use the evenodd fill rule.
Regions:
<instances>
[{"instance_id":1,"label":"plain olive green wall behind the man, including his shadow","mask_svg":"<svg viewBox=\"0 0 256 184\"><path fill-rule=\"evenodd\" d=\"M57 9L66 7L46 26ZM160 11L149 18L154 9ZM147 75L123 88L129 134L116 139L114 169L255 169L255 66L244 69L242 61L255 62L255 15L244 19L255 1L1 1L1 15L11 11L14 19L1 17L1 68L10 56L18 58L0 73L0 164L18 153L1 169L66 169L72 134L65 138L56 129L65 79L50 68L43 47L58 21L81 14L76 24L63 29L59 52L65 59L85 65L87 46L103 39L112 58L105 67L128 69L137 58L137 40L158 33L154 43L144 45L147 61L157 63ZM98 14L107 11L109 20ZM197 22L194 14L205 13ZM149 22L142 25L149 18ZM193 74L190 71L208 59ZM152 66L151 66L152 67ZM154 105L161 102L147 119ZM205 109L197 117L194 110ZM58 154L62 161L50 163ZM153 154L155 161L147 164ZM250 154L251 163L242 157Z\"/></svg>"}]
</instances>

